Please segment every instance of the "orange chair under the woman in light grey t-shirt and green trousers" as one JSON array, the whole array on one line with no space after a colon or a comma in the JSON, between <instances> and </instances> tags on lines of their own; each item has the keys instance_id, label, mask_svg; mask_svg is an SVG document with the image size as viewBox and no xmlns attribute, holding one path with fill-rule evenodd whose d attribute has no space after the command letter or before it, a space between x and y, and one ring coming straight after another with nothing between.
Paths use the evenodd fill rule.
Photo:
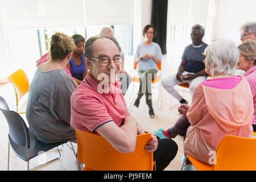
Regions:
<instances>
[{"instance_id":1,"label":"orange chair under the woman in light grey t-shirt and green trousers","mask_svg":"<svg viewBox=\"0 0 256 182\"><path fill-rule=\"evenodd\" d=\"M156 64L156 66L158 67L158 75L156 76L156 78L154 80L151 81L152 84L156 84L158 83L158 108L160 109L161 108L161 61L160 63ZM135 63L135 60L134 60L134 68L133 68L133 71L135 72L135 70L137 69L137 64ZM132 97L131 97L131 100L130 100L130 104L129 106L131 106L131 102L133 101L133 94L134 94L134 82L140 82L139 79L137 78L137 76L134 74L133 76L133 93L132 93Z\"/></svg>"}]
</instances>

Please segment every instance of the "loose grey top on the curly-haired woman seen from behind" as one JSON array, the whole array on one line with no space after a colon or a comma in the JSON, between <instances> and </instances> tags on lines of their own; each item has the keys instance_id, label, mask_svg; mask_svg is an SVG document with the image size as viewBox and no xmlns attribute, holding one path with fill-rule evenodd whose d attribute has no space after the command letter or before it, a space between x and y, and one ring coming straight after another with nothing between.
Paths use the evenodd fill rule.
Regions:
<instances>
[{"instance_id":1,"label":"loose grey top on the curly-haired woman seen from behind","mask_svg":"<svg viewBox=\"0 0 256 182\"><path fill-rule=\"evenodd\" d=\"M39 140L55 143L76 138L70 125L70 98L75 88L63 69L49 72L36 69L28 93L26 117Z\"/></svg>"}]
</instances>

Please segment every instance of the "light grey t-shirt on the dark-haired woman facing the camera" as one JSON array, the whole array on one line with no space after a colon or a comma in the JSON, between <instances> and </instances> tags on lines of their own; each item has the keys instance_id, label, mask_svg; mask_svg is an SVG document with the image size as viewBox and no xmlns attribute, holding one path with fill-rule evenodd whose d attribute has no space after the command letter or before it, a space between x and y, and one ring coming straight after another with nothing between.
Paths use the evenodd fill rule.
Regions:
<instances>
[{"instance_id":1,"label":"light grey t-shirt on the dark-haired woman facing the camera","mask_svg":"<svg viewBox=\"0 0 256 182\"><path fill-rule=\"evenodd\" d=\"M162 51L157 43L153 42L152 44L147 46L145 46L144 44L139 44L139 46L137 47L135 59L144 54L154 55L160 61L162 61ZM155 69L156 71L158 71L158 67L152 58L149 60L142 59L141 61L139 61L137 70L147 71L149 69Z\"/></svg>"}]
</instances>

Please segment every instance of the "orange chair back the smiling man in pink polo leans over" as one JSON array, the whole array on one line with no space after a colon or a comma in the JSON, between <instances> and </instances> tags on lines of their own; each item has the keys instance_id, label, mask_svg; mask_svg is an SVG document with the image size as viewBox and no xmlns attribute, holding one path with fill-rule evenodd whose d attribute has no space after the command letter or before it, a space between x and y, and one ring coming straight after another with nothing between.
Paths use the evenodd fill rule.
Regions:
<instances>
[{"instance_id":1,"label":"orange chair back the smiling man in pink polo leans over","mask_svg":"<svg viewBox=\"0 0 256 182\"><path fill-rule=\"evenodd\" d=\"M83 171L152 171L153 153L144 150L151 134L138 135L134 152L122 154L101 135L76 131L77 161L85 164Z\"/></svg>"}]
</instances>

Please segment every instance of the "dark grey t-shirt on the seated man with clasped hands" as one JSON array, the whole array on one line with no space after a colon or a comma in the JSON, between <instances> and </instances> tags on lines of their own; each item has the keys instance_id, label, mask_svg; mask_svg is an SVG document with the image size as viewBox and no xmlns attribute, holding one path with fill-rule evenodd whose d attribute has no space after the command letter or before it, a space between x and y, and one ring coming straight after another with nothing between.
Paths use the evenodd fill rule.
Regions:
<instances>
[{"instance_id":1,"label":"dark grey t-shirt on the seated man with clasped hands","mask_svg":"<svg viewBox=\"0 0 256 182\"><path fill-rule=\"evenodd\" d=\"M203 55L203 52L207 46L208 44L205 43L203 43L200 47L194 47L192 44L190 44L185 48L181 57L181 59L186 60L185 71L197 73L202 69L205 69L205 65L203 63L205 56Z\"/></svg>"}]
</instances>

